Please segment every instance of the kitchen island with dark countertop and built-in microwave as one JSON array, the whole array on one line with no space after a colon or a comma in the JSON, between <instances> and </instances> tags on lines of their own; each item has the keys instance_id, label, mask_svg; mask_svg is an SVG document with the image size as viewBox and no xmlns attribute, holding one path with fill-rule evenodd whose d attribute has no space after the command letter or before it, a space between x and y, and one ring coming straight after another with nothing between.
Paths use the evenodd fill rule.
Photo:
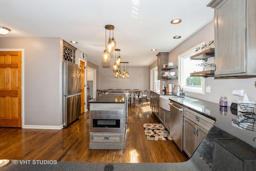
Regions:
<instances>
[{"instance_id":1,"label":"kitchen island with dark countertop and built-in microwave","mask_svg":"<svg viewBox=\"0 0 256 171\"><path fill-rule=\"evenodd\" d=\"M103 94L90 103L89 149L124 149L126 94Z\"/></svg>"}]
</instances>

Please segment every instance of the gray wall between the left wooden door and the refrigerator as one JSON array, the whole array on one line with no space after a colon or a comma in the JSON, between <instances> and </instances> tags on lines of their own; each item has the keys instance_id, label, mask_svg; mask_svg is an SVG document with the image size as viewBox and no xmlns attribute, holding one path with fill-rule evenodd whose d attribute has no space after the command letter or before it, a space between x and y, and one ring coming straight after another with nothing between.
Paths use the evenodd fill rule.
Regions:
<instances>
[{"instance_id":1,"label":"gray wall between the left wooden door and the refrigerator","mask_svg":"<svg viewBox=\"0 0 256 171\"><path fill-rule=\"evenodd\" d=\"M24 49L24 127L62 125L62 39L0 38L0 49Z\"/></svg>"}]
</instances>

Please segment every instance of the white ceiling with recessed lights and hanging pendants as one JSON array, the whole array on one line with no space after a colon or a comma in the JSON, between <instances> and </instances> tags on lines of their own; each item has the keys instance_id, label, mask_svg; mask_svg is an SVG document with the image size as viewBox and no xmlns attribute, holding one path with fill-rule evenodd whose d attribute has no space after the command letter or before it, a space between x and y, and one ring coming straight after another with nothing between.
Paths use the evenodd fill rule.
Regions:
<instances>
[{"instance_id":1,"label":"white ceiling with recessed lights and hanging pendants","mask_svg":"<svg viewBox=\"0 0 256 171\"><path fill-rule=\"evenodd\" d=\"M115 27L116 48L129 66L149 66L158 52L170 52L214 19L211 0L1 0L4 37L60 37L98 66L105 50L105 25ZM170 21L180 18L180 24ZM108 30L107 30L108 31ZM173 39L181 36L180 39ZM111 32L112 37L112 32ZM107 40L109 31L107 32ZM209 40L210 41L210 40ZM152 52L151 49L157 49Z\"/></svg>"}]
</instances>

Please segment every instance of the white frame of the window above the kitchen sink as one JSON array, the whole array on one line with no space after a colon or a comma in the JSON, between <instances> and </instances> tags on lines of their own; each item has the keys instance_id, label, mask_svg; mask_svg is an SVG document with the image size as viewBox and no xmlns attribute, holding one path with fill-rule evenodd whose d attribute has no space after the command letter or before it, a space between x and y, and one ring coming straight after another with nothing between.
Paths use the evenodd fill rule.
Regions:
<instances>
[{"instance_id":1,"label":"white frame of the window above the kitchen sink","mask_svg":"<svg viewBox=\"0 0 256 171\"><path fill-rule=\"evenodd\" d=\"M187 50L186 52L183 52L182 54L178 55L178 84L180 85L180 87L183 88L183 91L185 92L190 92L190 93L197 93L197 94L205 94L205 78L202 78L202 88L196 88L196 87L188 87L188 86L184 86L183 85L183 81L184 80L184 61L183 59L185 58L190 58L190 56L193 56L195 54L195 49L197 47L202 46L202 44L204 44L204 42L194 46L193 48L190 48L189 50ZM196 53L202 52L202 50L198 50ZM202 63L204 63L204 60L202 60Z\"/></svg>"}]
</instances>

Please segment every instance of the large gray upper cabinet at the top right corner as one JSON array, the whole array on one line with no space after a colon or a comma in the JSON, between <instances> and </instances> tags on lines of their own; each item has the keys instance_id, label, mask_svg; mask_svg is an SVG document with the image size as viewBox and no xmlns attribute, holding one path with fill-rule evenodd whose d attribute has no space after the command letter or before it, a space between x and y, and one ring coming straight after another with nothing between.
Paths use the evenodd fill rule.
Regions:
<instances>
[{"instance_id":1,"label":"large gray upper cabinet at the top right corner","mask_svg":"<svg viewBox=\"0 0 256 171\"><path fill-rule=\"evenodd\" d=\"M215 77L256 76L256 0L213 0Z\"/></svg>"}]
</instances>

